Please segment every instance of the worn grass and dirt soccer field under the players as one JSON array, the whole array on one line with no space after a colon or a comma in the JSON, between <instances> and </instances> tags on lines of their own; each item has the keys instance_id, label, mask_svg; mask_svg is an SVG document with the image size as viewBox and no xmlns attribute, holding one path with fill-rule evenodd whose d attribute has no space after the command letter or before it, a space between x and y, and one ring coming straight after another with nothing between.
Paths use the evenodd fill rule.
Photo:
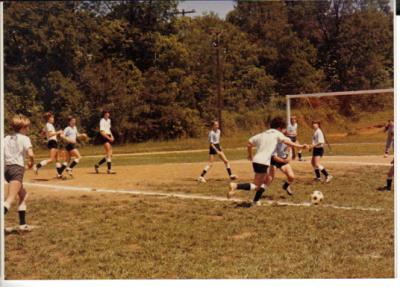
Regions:
<instances>
[{"instance_id":1,"label":"worn grass and dirt soccer field under the players","mask_svg":"<svg viewBox=\"0 0 400 287\"><path fill-rule=\"evenodd\" d=\"M220 162L207 184L195 181L204 152L120 155L114 158L116 175L93 174L98 157L84 157L75 178L65 181L54 179L49 168L39 176L28 172L28 220L39 228L6 236L6 278L392 278L394 198L376 191L391 160L382 157L382 148L382 143L333 146L334 156L325 158L334 175L330 184L312 181L309 162L293 162L295 196L280 190L279 175L264 205L252 208L199 199L225 198L229 182ZM347 156L355 153L359 156ZM251 180L244 150L227 154L240 181ZM72 187L193 198L68 190ZM322 206L266 204L301 204L316 189L325 195ZM16 223L12 210L6 225Z\"/></svg>"}]
</instances>

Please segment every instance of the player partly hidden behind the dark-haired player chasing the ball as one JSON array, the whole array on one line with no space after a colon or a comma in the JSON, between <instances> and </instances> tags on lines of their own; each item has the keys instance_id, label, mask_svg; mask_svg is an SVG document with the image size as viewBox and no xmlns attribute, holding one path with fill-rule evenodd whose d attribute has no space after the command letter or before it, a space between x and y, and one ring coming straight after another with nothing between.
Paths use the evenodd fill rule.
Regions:
<instances>
[{"instance_id":1,"label":"player partly hidden behind the dark-haired player chasing the ball","mask_svg":"<svg viewBox=\"0 0 400 287\"><path fill-rule=\"evenodd\" d=\"M289 138L289 140L291 139ZM277 169L281 170L283 174L286 175L286 181L282 185L282 189L285 190L288 195L293 195L290 185L294 182L294 172L289 162L288 146L284 143L278 143L272 155L271 166L268 169L268 175L265 181L266 186L271 185Z\"/></svg>"}]
</instances>

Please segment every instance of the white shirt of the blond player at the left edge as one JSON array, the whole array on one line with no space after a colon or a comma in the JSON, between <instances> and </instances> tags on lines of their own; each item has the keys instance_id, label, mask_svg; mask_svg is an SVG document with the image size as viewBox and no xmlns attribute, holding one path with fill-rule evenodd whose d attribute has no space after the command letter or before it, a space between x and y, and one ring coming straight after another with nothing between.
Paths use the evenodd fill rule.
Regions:
<instances>
[{"instance_id":1,"label":"white shirt of the blond player at the left edge","mask_svg":"<svg viewBox=\"0 0 400 287\"><path fill-rule=\"evenodd\" d=\"M4 160L5 165L19 165L24 167L24 160L32 143L26 135L16 133L8 135L4 139Z\"/></svg>"}]
</instances>

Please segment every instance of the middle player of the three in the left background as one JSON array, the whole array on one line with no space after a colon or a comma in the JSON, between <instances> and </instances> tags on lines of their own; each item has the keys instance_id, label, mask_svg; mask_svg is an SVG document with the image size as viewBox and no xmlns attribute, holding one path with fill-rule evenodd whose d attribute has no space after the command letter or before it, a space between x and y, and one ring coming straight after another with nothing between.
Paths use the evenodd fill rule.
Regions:
<instances>
[{"instance_id":1,"label":"middle player of the three in the left background","mask_svg":"<svg viewBox=\"0 0 400 287\"><path fill-rule=\"evenodd\" d=\"M69 174L70 177L72 177L72 169L79 163L79 161L82 158L79 153L79 150L76 147L77 140L82 135L83 134L80 134L76 127L76 118L72 116L68 117L68 126L64 129L64 132L61 134L61 137L66 142L65 145L66 161L63 163L61 167L61 173L66 168L67 173Z\"/></svg>"}]
</instances>

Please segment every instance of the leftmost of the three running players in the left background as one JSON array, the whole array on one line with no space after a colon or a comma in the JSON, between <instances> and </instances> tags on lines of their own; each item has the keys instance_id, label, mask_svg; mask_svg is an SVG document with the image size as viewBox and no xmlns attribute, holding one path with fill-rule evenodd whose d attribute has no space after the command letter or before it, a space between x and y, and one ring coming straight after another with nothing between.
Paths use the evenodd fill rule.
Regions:
<instances>
[{"instance_id":1,"label":"leftmost of the three running players in the left background","mask_svg":"<svg viewBox=\"0 0 400 287\"><path fill-rule=\"evenodd\" d=\"M39 173L39 169L48 165L49 163L56 163L57 170L57 178L61 178L61 163L58 161L58 140L57 136L62 134L62 130L56 131L54 128L54 115L51 112L47 112L44 114L44 119L46 121L46 125L43 128L43 132L47 139L47 148L50 150L50 157L48 159L42 160L40 163L33 167L33 170L36 174Z\"/></svg>"}]
</instances>

